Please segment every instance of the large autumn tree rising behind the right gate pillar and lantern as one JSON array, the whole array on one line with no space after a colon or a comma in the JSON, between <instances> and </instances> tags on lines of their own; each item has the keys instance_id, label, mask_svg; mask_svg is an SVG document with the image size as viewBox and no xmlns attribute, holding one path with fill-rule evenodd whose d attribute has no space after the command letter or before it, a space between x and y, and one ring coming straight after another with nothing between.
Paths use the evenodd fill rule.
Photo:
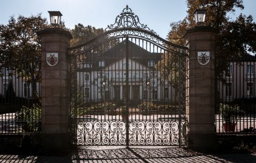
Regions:
<instances>
[{"instance_id":1,"label":"large autumn tree rising behind the right gate pillar and lantern","mask_svg":"<svg viewBox=\"0 0 256 163\"><path fill-rule=\"evenodd\" d=\"M182 34L195 25L194 10L207 9L205 25L214 28L217 33L215 55L217 75L220 78L224 71L228 73L231 58L256 52L256 24L253 17L242 14L236 20L229 17L237 8L244 8L242 3L242 0L187 0L188 15L183 21L170 24L168 40L184 46Z\"/></svg>"}]
</instances>

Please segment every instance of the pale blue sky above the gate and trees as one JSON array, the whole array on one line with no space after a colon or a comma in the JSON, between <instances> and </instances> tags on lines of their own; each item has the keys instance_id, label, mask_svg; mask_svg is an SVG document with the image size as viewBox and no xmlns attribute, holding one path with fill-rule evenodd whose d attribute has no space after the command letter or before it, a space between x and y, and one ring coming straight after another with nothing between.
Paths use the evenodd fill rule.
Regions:
<instances>
[{"instance_id":1,"label":"pale blue sky above the gate and trees","mask_svg":"<svg viewBox=\"0 0 256 163\"><path fill-rule=\"evenodd\" d=\"M31 16L42 13L48 22L47 11L62 12L66 27L72 29L75 24L91 25L105 29L115 22L115 17L129 5L139 21L147 24L158 35L166 39L170 23L182 20L186 16L186 0L0 0L0 24L7 24L14 15ZM243 0L244 10L238 9L232 17L241 12L251 14L256 20L256 0Z\"/></svg>"}]
</instances>

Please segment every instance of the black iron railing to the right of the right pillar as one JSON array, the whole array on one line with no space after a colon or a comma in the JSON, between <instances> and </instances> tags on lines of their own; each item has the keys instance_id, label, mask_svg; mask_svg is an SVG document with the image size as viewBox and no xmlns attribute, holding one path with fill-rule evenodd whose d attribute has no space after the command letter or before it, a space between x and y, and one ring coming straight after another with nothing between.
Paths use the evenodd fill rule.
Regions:
<instances>
[{"instance_id":1,"label":"black iron railing to the right of the right pillar","mask_svg":"<svg viewBox=\"0 0 256 163\"><path fill-rule=\"evenodd\" d=\"M217 134L256 134L256 59L230 61L218 77Z\"/></svg>"}]
</instances>

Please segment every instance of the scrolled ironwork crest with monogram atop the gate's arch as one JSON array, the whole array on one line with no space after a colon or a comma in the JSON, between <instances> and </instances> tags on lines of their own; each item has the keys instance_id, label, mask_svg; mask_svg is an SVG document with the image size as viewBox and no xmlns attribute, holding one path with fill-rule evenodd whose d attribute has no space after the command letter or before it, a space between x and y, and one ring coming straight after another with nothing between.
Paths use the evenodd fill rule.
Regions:
<instances>
[{"instance_id":1,"label":"scrolled ironwork crest with monogram atop the gate's arch","mask_svg":"<svg viewBox=\"0 0 256 163\"><path fill-rule=\"evenodd\" d=\"M132 12L131 8L129 8L128 5L126 5L126 8L122 10L121 14L115 18L115 23L108 25L105 31L118 28L144 29L150 33L157 35L154 30L147 27L147 25L139 22L139 17Z\"/></svg>"}]
</instances>

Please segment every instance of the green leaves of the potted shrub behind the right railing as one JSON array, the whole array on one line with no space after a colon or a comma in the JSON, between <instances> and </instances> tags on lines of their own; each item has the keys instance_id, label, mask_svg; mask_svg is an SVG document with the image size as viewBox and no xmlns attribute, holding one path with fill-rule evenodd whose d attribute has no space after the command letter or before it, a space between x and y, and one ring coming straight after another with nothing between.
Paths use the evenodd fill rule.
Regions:
<instances>
[{"instance_id":1,"label":"green leaves of the potted shrub behind the right railing","mask_svg":"<svg viewBox=\"0 0 256 163\"><path fill-rule=\"evenodd\" d=\"M225 122L236 123L241 118L243 111L237 104L220 104L220 115Z\"/></svg>"}]
</instances>

